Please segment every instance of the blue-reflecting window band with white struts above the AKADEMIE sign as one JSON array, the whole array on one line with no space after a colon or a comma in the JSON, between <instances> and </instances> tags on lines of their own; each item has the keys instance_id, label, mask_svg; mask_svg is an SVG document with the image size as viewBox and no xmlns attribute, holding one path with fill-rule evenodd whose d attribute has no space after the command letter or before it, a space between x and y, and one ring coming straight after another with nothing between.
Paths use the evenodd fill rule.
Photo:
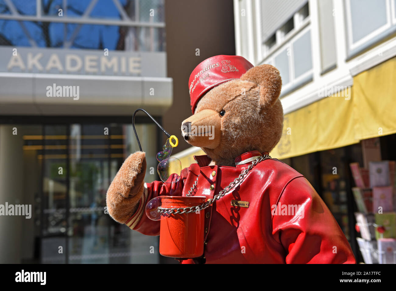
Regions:
<instances>
[{"instance_id":1,"label":"blue-reflecting window band with white struts above the AKADEMIE sign","mask_svg":"<svg viewBox=\"0 0 396 291\"><path fill-rule=\"evenodd\" d=\"M35 15L34 6L23 6L29 13ZM67 11L63 16L82 17L89 8L88 16L95 19L122 19L120 11L113 1L100 0L90 7L91 0L68 0ZM19 5L18 4L18 5ZM164 0L133 0L120 1L123 10L131 21L164 22ZM42 2L42 14L57 16L58 9L63 8L63 0ZM19 7L17 7L19 9ZM10 13L10 9L0 1L1 13ZM23 11L25 11L23 10ZM64 9L65 10L65 9ZM25 29L22 27L25 26ZM100 25L84 23L51 23L42 21L13 21L0 19L0 45L38 47L65 47L77 49L133 50L133 51L165 51L165 28Z\"/></svg>"}]
</instances>

